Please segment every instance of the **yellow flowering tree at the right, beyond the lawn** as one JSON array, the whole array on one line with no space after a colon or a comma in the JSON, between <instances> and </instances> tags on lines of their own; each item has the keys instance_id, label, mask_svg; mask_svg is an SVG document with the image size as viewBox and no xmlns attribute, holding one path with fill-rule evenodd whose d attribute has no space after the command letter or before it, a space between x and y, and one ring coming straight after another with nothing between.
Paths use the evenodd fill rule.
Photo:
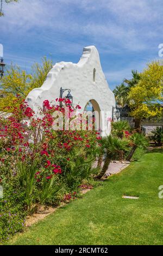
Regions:
<instances>
[{"instance_id":1,"label":"yellow flowering tree at the right, beyond the lawn","mask_svg":"<svg viewBox=\"0 0 163 256\"><path fill-rule=\"evenodd\" d=\"M140 129L142 118L162 115L163 65L152 62L140 74L140 81L129 92L131 115L135 117L135 128Z\"/></svg>"}]
</instances>

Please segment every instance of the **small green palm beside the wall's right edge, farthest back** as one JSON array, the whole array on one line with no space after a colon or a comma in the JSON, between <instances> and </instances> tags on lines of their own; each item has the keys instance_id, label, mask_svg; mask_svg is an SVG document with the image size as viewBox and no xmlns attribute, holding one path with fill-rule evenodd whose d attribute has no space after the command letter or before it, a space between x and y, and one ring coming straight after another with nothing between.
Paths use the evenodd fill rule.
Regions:
<instances>
[{"instance_id":1,"label":"small green palm beside the wall's right edge, farthest back","mask_svg":"<svg viewBox=\"0 0 163 256\"><path fill-rule=\"evenodd\" d=\"M112 133L118 138L123 137L123 132L130 130L128 121L117 121L111 124Z\"/></svg>"}]
</instances>

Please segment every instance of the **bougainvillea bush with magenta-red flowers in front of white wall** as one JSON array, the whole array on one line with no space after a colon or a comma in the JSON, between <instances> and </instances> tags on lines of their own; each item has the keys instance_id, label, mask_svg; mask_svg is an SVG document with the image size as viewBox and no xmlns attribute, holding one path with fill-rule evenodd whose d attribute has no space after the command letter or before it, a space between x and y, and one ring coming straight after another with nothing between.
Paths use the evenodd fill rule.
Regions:
<instances>
[{"instance_id":1,"label":"bougainvillea bush with magenta-red flowers in front of white wall","mask_svg":"<svg viewBox=\"0 0 163 256\"><path fill-rule=\"evenodd\" d=\"M4 108L0 117L1 240L20 231L24 216L38 204L58 203L96 174L92 163L101 139L87 124L85 130L65 130L65 124L61 130L53 129L54 114L60 111L65 116L65 106L70 120L78 116L82 122L77 115L80 106L72 107L66 99L44 101L37 116L20 96L13 106L10 114L5 114L9 107Z\"/></svg>"}]
</instances>

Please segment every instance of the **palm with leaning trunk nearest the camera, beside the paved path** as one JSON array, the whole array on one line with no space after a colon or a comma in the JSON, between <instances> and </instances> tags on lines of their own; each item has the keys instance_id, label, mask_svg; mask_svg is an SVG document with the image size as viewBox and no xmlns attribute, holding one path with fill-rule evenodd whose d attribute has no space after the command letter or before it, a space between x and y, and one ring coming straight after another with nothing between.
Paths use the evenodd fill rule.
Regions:
<instances>
[{"instance_id":1,"label":"palm with leaning trunk nearest the camera, beside the paved path","mask_svg":"<svg viewBox=\"0 0 163 256\"><path fill-rule=\"evenodd\" d=\"M116 156L116 154L119 154L120 151L126 150L127 147L127 141L112 137L112 135L109 135L108 137L103 138L103 148L106 150L106 158L104 162L104 166L101 169L101 172L96 176L97 179L101 179L103 175L105 174L106 170L108 170L109 163L112 159Z\"/></svg>"}]
</instances>

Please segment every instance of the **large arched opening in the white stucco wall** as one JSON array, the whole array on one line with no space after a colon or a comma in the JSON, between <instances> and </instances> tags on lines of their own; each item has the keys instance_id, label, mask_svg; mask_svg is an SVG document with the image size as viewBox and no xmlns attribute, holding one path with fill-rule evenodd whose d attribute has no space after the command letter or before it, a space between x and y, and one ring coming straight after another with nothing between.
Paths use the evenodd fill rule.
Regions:
<instances>
[{"instance_id":1,"label":"large arched opening in the white stucco wall","mask_svg":"<svg viewBox=\"0 0 163 256\"><path fill-rule=\"evenodd\" d=\"M101 125L102 125L101 123L102 119L101 119L101 109L99 108L97 101L93 99L89 100L86 103L84 111L90 114L92 112L92 118L93 119L95 118L95 124L93 125L93 130L100 131ZM89 115L87 115L87 117L89 117Z\"/></svg>"}]
</instances>

